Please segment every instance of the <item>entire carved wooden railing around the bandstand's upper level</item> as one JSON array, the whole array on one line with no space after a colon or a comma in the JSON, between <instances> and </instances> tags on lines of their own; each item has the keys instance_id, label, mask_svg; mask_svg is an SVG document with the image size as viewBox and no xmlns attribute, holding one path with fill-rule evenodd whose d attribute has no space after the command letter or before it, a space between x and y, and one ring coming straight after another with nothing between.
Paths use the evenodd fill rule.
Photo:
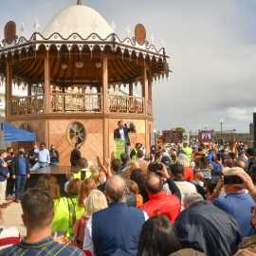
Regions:
<instances>
[{"instance_id":1,"label":"entire carved wooden railing around the bandstand's upper level","mask_svg":"<svg viewBox=\"0 0 256 256\"><path fill-rule=\"evenodd\" d=\"M52 114L94 114L102 113L101 93L51 93ZM34 95L9 100L10 116L44 113L44 95ZM123 114L145 114L144 98L136 96L109 95L109 112ZM147 115L152 116L152 103L147 101Z\"/></svg>"}]
</instances>

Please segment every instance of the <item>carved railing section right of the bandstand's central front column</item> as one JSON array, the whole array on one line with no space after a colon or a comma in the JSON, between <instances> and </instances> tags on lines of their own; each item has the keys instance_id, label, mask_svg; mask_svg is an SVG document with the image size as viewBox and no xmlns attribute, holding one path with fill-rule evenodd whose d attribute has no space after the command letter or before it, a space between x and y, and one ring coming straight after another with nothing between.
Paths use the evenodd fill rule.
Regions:
<instances>
[{"instance_id":1,"label":"carved railing section right of the bandstand's central front column","mask_svg":"<svg viewBox=\"0 0 256 256\"><path fill-rule=\"evenodd\" d=\"M143 102L141 97L109 95L109 112L144 114Z\"/></svg>"}]
</instances>

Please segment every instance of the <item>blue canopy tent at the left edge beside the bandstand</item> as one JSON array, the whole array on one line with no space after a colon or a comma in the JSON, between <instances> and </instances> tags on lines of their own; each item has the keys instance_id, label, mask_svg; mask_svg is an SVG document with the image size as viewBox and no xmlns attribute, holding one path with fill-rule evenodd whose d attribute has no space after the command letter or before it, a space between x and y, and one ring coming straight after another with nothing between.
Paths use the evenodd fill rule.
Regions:
<instances>
[{"instance_id":1,"label":"blue canopy tent at the left edge beside the bandstand","mask_svg":"<svg viewBox=\"0 0 256 256\"><path fill-rule=\"evenodd\" d=\"M24 131L13 125L10 125L8 122L4 122L4 135L6 141L35 141L36 134Z\"/></svg>"}]
</instances>

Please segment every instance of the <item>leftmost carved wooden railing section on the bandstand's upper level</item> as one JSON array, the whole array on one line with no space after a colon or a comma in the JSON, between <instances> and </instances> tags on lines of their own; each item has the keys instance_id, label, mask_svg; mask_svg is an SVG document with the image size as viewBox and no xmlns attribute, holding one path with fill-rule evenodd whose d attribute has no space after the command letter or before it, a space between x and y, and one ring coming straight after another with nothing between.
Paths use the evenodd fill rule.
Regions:
<instances>
[{"instance_id":1,"label":"leftmost carved wooden railing section on the bandstand's upper level","mask_svg":"<svg viewBox=\"0 0 256 256\"><path fill-rule=\"evenodd\" d=\"M44 113L44 95L11 98L9 113L11 116Z\"/></svg>"}]
</instances>

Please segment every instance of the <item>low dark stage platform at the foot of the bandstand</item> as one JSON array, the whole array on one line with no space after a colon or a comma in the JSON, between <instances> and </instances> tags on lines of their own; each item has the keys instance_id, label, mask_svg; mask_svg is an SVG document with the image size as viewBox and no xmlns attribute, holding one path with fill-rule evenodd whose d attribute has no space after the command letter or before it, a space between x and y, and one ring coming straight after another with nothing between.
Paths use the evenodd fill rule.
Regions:
<instances>
[{"instance_id":1,"label":"low dark stage platform at the foot of the bandstand","mask_svg":"<svg viewBox=\"0 0 256 256\"><path fill-rule=\"evenodd\" d=\"M34 188L37 180L44 174L51 174L56 177L58 184L60 185L61 194L67 196L64 192L64 183L67 181L65 174L74 173L77 174L79 169L75 166L49 166L40 168L35 172L30 173L30 177L27 179L27 189Z\"/></svg>"}]
</instances>

